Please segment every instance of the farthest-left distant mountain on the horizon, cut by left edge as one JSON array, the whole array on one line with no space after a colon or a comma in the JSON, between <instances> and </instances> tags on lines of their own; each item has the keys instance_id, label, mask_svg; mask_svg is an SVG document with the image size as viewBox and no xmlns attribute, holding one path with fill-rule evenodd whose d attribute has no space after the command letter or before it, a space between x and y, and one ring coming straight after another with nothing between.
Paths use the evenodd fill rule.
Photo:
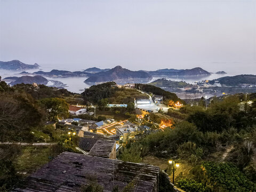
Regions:
<instances>
[{"instance_id":1,"label":"farthest-left distant mountain on the horizon, cut by left edge","mask_svg":"<svg viewBox=\"0 0 256 192\"><path fill-rule=\"evenodd\" d=\"M0 61L0 69L5 70L27 70L27 69L38 69L39 65L35 63L34 65L28 65L20 62L19 60L12 61Z\"/></svg>"}]
</instances>

